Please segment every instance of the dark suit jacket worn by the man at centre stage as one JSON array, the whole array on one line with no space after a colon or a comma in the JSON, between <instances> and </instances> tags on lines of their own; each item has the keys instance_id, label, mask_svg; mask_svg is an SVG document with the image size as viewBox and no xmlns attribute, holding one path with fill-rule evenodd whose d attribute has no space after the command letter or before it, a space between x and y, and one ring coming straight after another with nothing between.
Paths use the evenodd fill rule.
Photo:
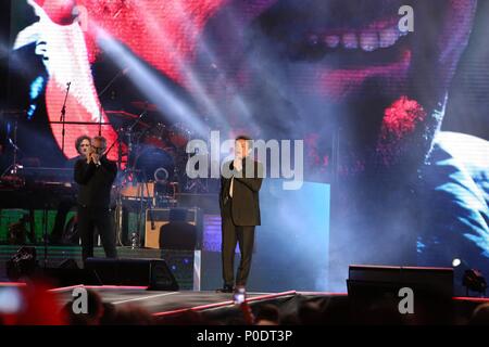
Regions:
<instances>
[{"instance_id":1,"label":"dark suit jacket worn by the man at centre stage","mask_svg":"<svg viewBox=\"0 0 489 347\"><path fill-rule=\"evenodd\" d=\"M263 182L263 165L251 159L242 160L241 175L235 172L235 181L233 183L233 204L231 218L236 226L251 227L260 226L260 198L259 191ZM253 177L246 177L247 165L254 165ZM234 170L233 162L227 162L224 167ZM224 218L224 205L229 198L229 187L231 179L221 175L221 194L220 206L221 217Z\"/></svg>"}]
</instances>

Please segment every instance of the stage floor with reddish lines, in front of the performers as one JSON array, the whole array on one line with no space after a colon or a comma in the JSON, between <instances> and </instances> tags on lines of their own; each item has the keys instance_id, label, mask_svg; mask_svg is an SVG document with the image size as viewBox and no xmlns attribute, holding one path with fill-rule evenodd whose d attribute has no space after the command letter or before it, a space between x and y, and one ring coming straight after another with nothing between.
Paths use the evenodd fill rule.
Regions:
<instances>
[{"instance_id":1,"label":"stage floor with reddish lines, in front of the performers","mask_svg":"<svg viewBox=\"0 0 489 347\"><path fill-rule=\"evenodd\" d=\"M25 283L2 283L0 290L9 286L24 286ZM211 319L223 322L233 317L241 317L239 306L233 303L233 294L216 293L211 291L179 291L162 292L148 291L145 286L92 286L74 285L52 288L50 292L57 295L60 307L73 299L73 291L84 287L97 292L104 303L111 303L116 307L135 306L147 310L155 318L165 319L178 317L185 311L196 311ZM275 305L280 314L294 314L304 303L319 305L340 304L348 310L349 297L347 293L319 293L288 291L281 293L247 293L247 301L253 312L264 304ZM456 321L467 322L474 309L480 304L489 303L488 298L454 297L453 309L456 312ZM335 305L335 304L333 304ZM336 305L335 305L336 306ZM172 324L172 323L171 323Z\"/></svg>"}]
</instances>

